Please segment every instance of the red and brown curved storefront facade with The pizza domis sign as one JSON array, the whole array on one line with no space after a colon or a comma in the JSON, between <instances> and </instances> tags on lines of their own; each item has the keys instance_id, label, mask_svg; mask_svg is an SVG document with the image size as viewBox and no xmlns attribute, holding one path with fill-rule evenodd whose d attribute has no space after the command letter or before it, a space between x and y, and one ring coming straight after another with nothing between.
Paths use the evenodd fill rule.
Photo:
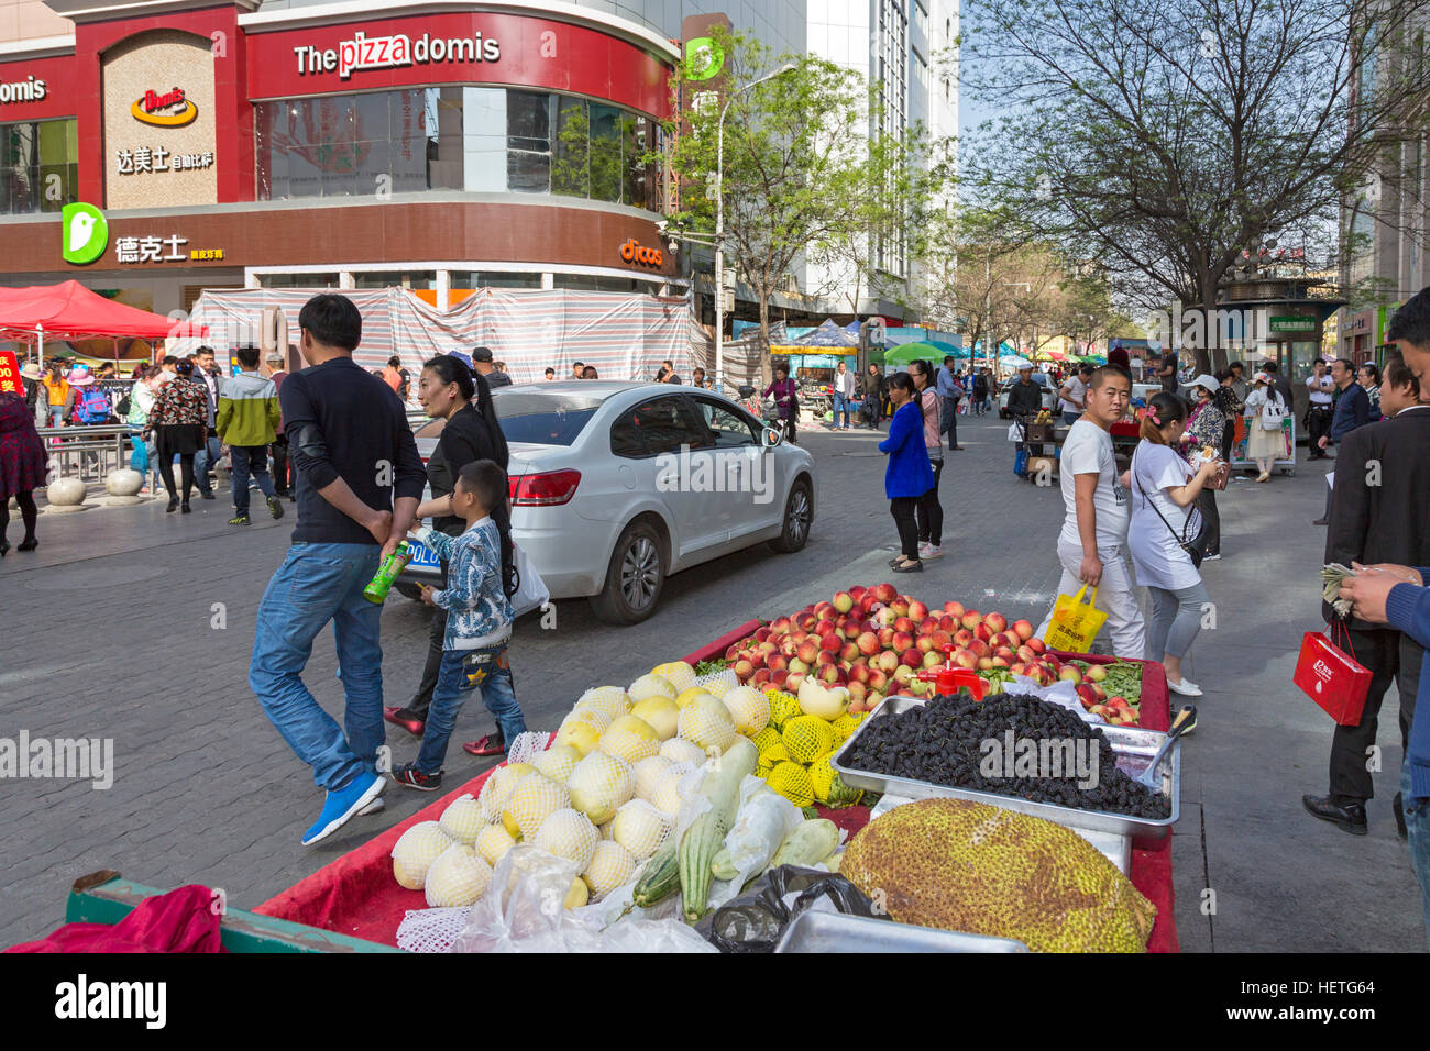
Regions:
<instances>
[{"instance_id":1,"label":"red and brown curved storefront facade with The pizza domis sign","mask_svg":"<svg viewBox=\"0 0 1430 1051\"><path fill-rule=\"evenodd\" d=\"M669 250L629 247L662 247L651 157L678 56L632 23L440 0L63 3L72 50L0 61L6 285L76 277L167 312L203 286L402 283L440 303L676 275ZM86 265L63 259L72 202L109 224Z\"/></svg>"}]
</instances>

